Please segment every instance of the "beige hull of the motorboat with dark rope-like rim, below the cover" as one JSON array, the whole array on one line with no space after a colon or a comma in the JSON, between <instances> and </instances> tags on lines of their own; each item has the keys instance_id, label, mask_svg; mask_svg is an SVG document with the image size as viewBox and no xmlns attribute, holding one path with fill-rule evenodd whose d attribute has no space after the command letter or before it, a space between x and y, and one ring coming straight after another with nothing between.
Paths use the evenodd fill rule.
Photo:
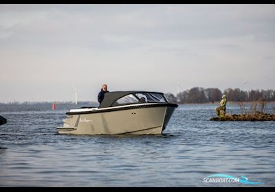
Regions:
<instances>
[{"instance_id":1,"label":"beige hull of the motorboat with dark rope-like rim, below the cover","mask_svg":"<svg viewBox=\"0 0 275 192\"><path fill-rule=\"evenodd\" d=\"M67 112L59 134L162 134L177 105L148 104Z\"/></svg>"}]
</instances>

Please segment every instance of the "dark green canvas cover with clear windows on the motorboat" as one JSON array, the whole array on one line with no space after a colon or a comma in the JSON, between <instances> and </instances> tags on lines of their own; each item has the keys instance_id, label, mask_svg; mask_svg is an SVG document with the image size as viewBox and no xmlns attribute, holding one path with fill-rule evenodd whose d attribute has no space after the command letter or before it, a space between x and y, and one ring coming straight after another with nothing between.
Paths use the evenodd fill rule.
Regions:
<instances>
[{"instance_id":1,"label":"dark green canvas cover with clear windows on the motorboat","mask_svg":"<svg viewBox=\"0 0 275 192\"><path fill-rule=\"evenodd\" d=\"M113 91L104 94L98 108L124 106L139 103L168 103L163 93L147 91Z\"/></svg>"}]
</instances>

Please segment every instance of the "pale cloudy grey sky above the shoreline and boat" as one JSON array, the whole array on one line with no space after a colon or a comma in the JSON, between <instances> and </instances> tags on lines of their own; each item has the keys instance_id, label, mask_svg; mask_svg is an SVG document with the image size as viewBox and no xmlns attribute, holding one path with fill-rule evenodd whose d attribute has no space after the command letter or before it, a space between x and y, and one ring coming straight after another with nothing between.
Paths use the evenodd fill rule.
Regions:
<instances>
[{"instance_id":1,"label":"pale cloudy grey sky above the shoreline and boat","mask_svg":"<svg viewBox=\"0 0 275 192\"><path fill-rule=\"evenodd\" d=\"M275 5L0 5L0 102L275 88Z\"/></svg>"}]
</instances>

